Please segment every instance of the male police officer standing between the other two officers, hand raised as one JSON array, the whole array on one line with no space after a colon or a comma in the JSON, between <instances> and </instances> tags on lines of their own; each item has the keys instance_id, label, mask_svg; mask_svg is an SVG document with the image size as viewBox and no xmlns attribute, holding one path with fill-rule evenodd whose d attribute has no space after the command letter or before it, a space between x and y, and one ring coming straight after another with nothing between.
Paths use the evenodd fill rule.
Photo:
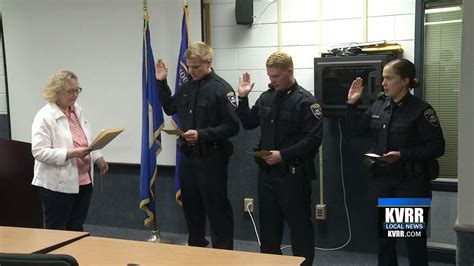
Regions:
<instances>
[{"instance_id":1,"label":"male police officer standing between the other two officers, hand raised","mask_svg":"<svg viewBox=\"0 0 474 266\"><path fill-rule=\"evenodd\" d=\"M245 129L260 126L257 150L271 154L256 158L259 165L261 252L281 254L283 221L289 225L293 254L312 265L314 229L311 222L311 180L314 156L322 139L322 113L316 99L298 85L293 61L276 52L266 62L270 89L252 109L248 95L253 84L245 73L239 84L237 114Z\"/></svg>"}]
</instances>

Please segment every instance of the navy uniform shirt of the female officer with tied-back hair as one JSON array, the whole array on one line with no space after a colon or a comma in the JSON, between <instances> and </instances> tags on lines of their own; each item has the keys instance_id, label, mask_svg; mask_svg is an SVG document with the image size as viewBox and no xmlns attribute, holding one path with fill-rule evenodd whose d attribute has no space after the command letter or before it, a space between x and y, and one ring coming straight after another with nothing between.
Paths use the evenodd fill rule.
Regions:
<instances>
[{"instance_id":1,"label":"navy uniform shirt of the female officer with tied-back hair","mask_svg":"<svg viewBox=\"0 0 474 266\"><path fill-rule=\"evenodd\" d=\"M358 134L372 134L373 152L400 151L401 161L427 161L444 154L445 140L435 110L407 93L399 102L381 95L359 115L357 104L347 105L347 119Z\"/></svg>"}]
</instances>

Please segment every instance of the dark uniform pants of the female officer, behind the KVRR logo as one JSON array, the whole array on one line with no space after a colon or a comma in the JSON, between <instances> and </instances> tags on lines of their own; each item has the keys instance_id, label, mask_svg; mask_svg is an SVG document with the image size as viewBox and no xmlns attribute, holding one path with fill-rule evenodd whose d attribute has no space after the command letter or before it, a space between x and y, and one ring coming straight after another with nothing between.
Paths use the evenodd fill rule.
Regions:
<instances>
[{"instance_id":1,"label":"dark uniform pants of the female officer, behind the KVRR logo","mask_svg":"<svg viewBox=\"0 0 474 266\"><path fill-rule=\"evenodd\" d=\"M431 198L431 181L424 177L373 177L372 190L378 198ZM428 221L426 221L428 225ZM383 225L378 224L379 228ZM411 266L428 265L426 238L405 238L408 261ZM396 238L378 239L378 265L398 265Z\"/></svg>"}]
</instances>

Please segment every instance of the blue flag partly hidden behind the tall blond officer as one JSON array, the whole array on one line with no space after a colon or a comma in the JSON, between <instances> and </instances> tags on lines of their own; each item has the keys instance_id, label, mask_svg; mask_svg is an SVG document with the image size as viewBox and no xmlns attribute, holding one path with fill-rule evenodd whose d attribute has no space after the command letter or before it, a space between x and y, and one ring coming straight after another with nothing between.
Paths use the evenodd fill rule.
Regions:
<instances>
[{"instance_id":1,"label":"blue flag partly hidden behind the tall blond officer","mask_svg":"<svg viewBox=\"0 0 474 266\"><path fill-rule=\"evenodd\" d=\"M188 6L183 7L183 21L181 23L181 45L179 47L178 66L176 67L176 83L174 93L179 91L181 85L183 85L189 79L188 64L184 57L184 52L189 46L189 35L188 35ZM175 114L172 117L172 123L179 125L178 116ZM182 205L181 202L181 184L179 183L179 165L181 164L181 152L176 147L176 171L175 171L175 184L176 184L176 202Z\"/></svg>"}]
</instances>

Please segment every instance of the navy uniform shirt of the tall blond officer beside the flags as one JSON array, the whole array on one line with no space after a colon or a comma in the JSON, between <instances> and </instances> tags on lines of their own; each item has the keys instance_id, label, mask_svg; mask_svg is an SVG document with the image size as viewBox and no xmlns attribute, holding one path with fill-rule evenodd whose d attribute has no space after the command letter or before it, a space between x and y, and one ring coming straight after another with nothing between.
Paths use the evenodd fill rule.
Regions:
<instances>
[{"instance_id":1,"label":"navy uniform shirt of the tall blond officer beside the flags","mask_svg":"<svg viewBox=\"0 0 474 266\"><path fill-rule=\"evenodd\" d=\"M239 132L235 92L214 70L184 83L173 96L166 80L158 80L158 91L165 113L177 113L183 132L196 129L198 141L222 142Z\"/></svg>"}]
</instances>

